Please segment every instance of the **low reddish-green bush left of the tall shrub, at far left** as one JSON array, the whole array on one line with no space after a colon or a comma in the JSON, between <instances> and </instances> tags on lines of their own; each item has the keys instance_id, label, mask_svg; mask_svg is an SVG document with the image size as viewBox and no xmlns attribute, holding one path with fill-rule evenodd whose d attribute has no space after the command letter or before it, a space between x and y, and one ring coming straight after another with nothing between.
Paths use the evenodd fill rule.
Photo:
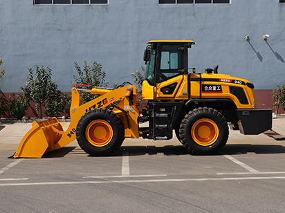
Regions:
<instances>
[{"instance_id":1,"label":"low reddish-green bush left of the tall shrub, at far left","mask_svg":"<svg viewBox=\"0 0 285 213\"><path fill-rule=\"evenodd\" d=\"M13 118L21 119L26 115L26 110L30 107L29 100L20 93L12 93L8 99L8 111Z\"/></svg>"}]
</instances>

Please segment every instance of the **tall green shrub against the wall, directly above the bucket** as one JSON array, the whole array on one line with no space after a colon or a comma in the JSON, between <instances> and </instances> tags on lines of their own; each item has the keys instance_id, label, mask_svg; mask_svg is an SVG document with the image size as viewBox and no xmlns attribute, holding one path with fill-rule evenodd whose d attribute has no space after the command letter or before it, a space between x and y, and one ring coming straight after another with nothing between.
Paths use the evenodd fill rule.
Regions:
<instances>
[{"instance_id":1,"label":"tall green shrub against the wall, directly above the bucket","mask_svg":"<svg viewBox=\"0 0 285 213\"><path fill-rule=\"evenodd\" d=\"M35 75L33 69L28 69L28 77L25 86L21 86L24 96L27 100L33 100L39 118L42 118L42 106L48 100L52 102L53 98L58 98L57 84L51 80L50 67L35 66ZM48 109L50 112L51 109ZM47 112L47 113L48 113ZM57 112L55 112L57 113Z\"/></svg>"}]
</instances>

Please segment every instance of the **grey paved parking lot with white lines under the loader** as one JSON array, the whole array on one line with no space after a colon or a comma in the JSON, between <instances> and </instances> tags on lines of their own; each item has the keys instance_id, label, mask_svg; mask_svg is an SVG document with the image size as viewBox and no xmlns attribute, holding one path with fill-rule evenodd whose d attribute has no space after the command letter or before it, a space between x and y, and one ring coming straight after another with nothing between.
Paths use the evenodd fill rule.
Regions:
<instances>
[{"instance_id":1,"label":"grey paved parking lot with white lines under the loader","mask_svg":"<svg viewBox=\"0 0 285 213\"><path fill-rule=\"evenodd\" d=\"M0 125L0 212L285 209L285 140L230 131L219 154L192 156L176 138L126 139L107 157L88 156L73 141L43 158L14 159L31 124ZM285 116L273 129L285 135Z\"/></svg>"}]
</instances>

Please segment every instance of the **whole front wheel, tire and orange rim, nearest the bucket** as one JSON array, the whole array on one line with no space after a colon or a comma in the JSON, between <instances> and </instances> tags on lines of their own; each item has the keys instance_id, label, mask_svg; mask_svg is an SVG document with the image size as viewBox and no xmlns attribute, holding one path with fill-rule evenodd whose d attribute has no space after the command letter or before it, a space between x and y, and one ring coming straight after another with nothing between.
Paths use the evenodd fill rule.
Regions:
<instances>
[{"instance_id":1,"label":"whole front wheel, tire and orange rim, nearest the bucket","mask_svg":"<svg viewBox=\"0 0 285 213\"><path fill-rule=\"evenodd\" d=\"M78 145L91 156L107 156L125 139L125 128L119 116L109 109L93 109L80 118L76 127Z\"/></svg>"}]
</instances>

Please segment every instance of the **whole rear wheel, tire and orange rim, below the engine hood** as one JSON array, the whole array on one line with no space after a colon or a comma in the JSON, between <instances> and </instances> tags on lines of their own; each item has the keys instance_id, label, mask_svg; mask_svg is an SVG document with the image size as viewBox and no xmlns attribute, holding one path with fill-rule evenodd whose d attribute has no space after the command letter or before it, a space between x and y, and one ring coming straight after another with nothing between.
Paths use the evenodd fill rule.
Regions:
<instances>
[{"instance_id":1,"label":"whole rear wheel, tire and orange rim, below the engine hood","mask_svg":"<svg viewBox=\"0 0 285 213\"><path fill-rule=\"evenodd\" d=\"M179 129L181 143L190 154L213 154L228 140L228 123L217 110L199 107L185 115Z\"/></svg>"}]
</instances>

